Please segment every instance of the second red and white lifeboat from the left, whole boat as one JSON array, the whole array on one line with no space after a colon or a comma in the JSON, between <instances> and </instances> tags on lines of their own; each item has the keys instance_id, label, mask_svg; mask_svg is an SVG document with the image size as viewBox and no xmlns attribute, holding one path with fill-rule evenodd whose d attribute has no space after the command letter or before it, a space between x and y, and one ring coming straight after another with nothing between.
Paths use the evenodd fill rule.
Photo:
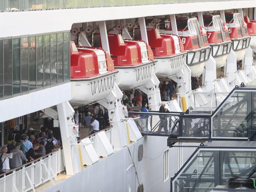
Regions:
<instances>
[{"instance_id":1,"label":"second red and white lifeboat from the left, whole boat","mask_svg":"<svg viewBox=\"0 0 256 192\"><path fill-rule=\"evenodd\" d=\"M99 34L94 34L94 42L101 47ZM123 40L121 34L108 34L108 43L114 67L119 71L116 83L121 90L138 88L151 79L157 60L148 43Z\"/></svg>"}]
</instances>

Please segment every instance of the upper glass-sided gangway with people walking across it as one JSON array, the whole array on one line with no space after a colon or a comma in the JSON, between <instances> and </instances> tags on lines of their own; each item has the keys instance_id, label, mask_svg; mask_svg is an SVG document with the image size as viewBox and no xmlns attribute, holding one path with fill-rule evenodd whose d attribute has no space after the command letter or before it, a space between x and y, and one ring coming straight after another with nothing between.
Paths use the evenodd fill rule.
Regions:
<instances>
[{"instance_id":1,"label":"upper glass-sided gangway with people walking across it","mask_svg":"<svg viewBox=\"0 0 256 192\"><path fill-rule=\"evenodd\" d=\"M256 86L236 86L226 98L211 94L211 102L205 106L193 103L186 113L129 112L129 117L136 118L142 135L168 136L169 147L176 142L254 140Z\"/></svg>"}]
</instances>

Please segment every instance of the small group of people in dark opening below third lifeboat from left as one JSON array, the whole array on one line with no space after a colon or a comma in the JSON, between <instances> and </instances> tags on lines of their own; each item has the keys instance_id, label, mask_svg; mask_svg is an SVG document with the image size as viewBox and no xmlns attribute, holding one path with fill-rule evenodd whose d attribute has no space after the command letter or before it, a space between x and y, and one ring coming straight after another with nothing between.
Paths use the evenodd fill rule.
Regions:
<instances>
[{"instance_id":1,"label":"small group of people in dark opening below third lifeboat from left","mask_svg":"<svg viewBox=\"0 0 256 192\"><path fill-rule=\"evenodd\" d=\"M169 80L168 83L163 80L159 84L159 89L162 101L170 101L176 94L176 85L172 80Z\"/></svg>"}]
</instances>

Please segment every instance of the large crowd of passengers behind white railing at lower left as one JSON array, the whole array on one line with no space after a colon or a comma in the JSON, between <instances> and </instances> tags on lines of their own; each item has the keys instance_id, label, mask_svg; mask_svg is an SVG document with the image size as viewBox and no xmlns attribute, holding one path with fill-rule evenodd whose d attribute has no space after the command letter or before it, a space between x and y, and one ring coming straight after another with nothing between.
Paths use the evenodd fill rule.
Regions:
<instances>
[{"instance_id":1,"label":"large crowd of passengers behind white railing at lower left","mask_svg":"<svg viewBox=\"0 0 256 192\"><path fill-rule=\"evenodd\" d=\"M30 127L15 136L9 134L7 143L0 153L0 174L43 157L58 147L52 130L47 127L42 127L40 132Z\"/></svg>"}]
</instances>

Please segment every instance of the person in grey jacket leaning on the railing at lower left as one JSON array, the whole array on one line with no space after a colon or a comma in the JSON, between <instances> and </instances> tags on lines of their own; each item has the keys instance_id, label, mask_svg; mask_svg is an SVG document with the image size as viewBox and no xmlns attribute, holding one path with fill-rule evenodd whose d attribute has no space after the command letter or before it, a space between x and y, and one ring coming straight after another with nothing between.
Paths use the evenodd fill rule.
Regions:
<instances>
[{"instance_id":1,"label":"person in grey jacket leaning on the railing at lower left","mask_svg":"<svg viewBox=\"0 0 256 192\"><path fill-rule=\"evenodd\" d=\"M11 168L12 169L22 166L22 160L24 162L28 161L27 158L25 157L25 155L21 151L20 143L15 144L15 148L13 150L11 150L11 153L14 153L14 152L19 152L19 153L16 153L15 155L13 155L13 158L11 159Z\"/></svg>"}]
</instances>

